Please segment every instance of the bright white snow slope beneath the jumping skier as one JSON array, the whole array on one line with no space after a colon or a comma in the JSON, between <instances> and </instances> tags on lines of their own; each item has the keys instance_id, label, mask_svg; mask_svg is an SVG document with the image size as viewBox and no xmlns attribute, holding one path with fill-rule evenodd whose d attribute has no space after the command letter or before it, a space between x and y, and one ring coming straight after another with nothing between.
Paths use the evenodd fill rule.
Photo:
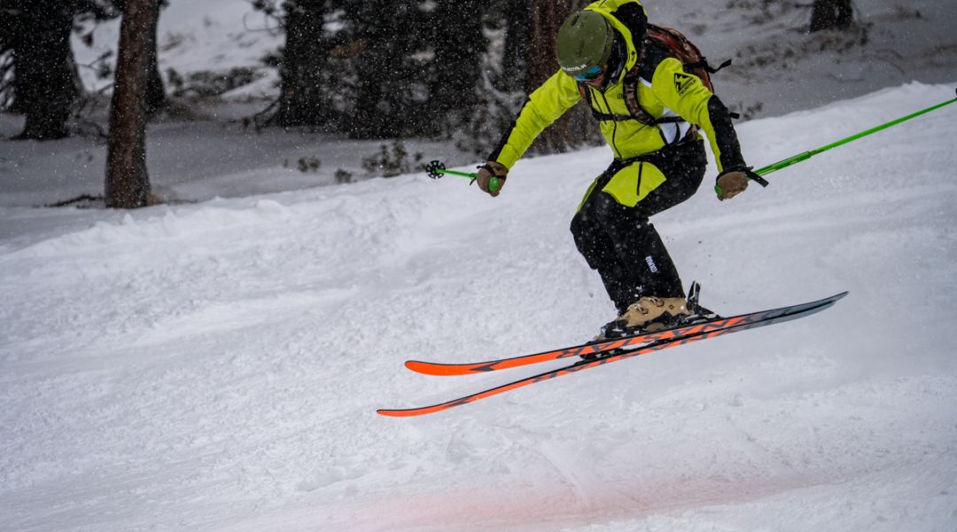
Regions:
<instances>
[{"instance_id":1,"label":"bright white snow slope beneath the jumping skier","mask_svg":"<svg viewBox=\"0 0 957 532\"><path fill-rule=\"evenodd\" d=\"M763 165L953 94L747 122L742 144ZM850 290L833 309L414 419L374 410L533 370L442 379L407 358L533 352L612 317L568 233L609 150L523 161L497 199L409 175L0 207L0 529L951 531L955 118L657 216L705 305Z\"/></svg>"}]
</instances>

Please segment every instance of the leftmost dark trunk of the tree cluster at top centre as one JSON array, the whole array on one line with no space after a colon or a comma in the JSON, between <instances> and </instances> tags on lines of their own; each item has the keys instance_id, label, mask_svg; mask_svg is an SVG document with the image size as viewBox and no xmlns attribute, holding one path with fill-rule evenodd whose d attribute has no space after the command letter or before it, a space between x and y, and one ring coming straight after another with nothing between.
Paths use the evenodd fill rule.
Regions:
<instances>
[{"instance_id":1,"label":"leftmost dark trunk of the tree cluster at top centre","mask_svg":"<svg viewBox=\"0 0 957 532\"><path fill-rule=\"evenodd\" d=\"M279 125L321 125L327 121L326 50L323 39L323 0L287 0L286 46L279 77Z\"/></svg>"}]
</instances>

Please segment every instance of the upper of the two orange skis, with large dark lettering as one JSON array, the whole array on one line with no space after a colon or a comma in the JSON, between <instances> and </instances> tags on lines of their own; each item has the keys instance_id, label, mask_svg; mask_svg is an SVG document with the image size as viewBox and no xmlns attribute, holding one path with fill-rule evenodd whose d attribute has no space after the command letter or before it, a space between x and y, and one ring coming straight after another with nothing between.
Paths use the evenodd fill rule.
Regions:
<instances>
[{"instance_id":1,"label":"upper of the two orange skis, with large dark lettering","mask_svg":"<svg viewBox=\"0 0 957 532\"><path fill-rule=\"evenodd\" d=\"M846 294L846 293L845 293ZM539 364L543 362L549 362L553 360L567 359L571 357L584 357L588 355L598 355L606 351L612 351L614 349L623 349L632 347L639 344L651 344L657 342L666 342L670 340L676 340L681 337L699 334L701 332L706 332L715 329L722 329L740 324L746 321L753 320L756 316L767 315L768 313L777 313L777 312L800 312L802 309L810 308L820 304L825 304L829 300L836 300L843 297L842 295L837 295L833 298L820 299L817 301L811 301L808 303L803 303L799 305L791 305L784 308L767 310L762 312L751 312L748 314L742 314L740 316L734 316L731 318L715 318L714 320L701 321L699 323L679 326L673 329L667 329L664 331L658 331L653 333L640 333L632 336L624 336L621 338L614 338L605 341L590 342L588 344L581 345L572 345L570 347L563 347L560 349L553 349L550 351L544 351L542 353L536 353L533 355L523 355L518 357L510 357L499 360L491 360L486 362L477 362L477 363L464 363L464 364L442 364L434 362L423 362L417 360L411 360L406 362L406 367L412 369L416 373L422 373L425 375L436 375L441 377L456 376L456 375L471 375L474 373L485 373L487 371L499 371L501 369L509 369L512 367L521 367L528 366L532 364ZM835 299L836 298L836 299Z\"/></svg>"}]
</instances>

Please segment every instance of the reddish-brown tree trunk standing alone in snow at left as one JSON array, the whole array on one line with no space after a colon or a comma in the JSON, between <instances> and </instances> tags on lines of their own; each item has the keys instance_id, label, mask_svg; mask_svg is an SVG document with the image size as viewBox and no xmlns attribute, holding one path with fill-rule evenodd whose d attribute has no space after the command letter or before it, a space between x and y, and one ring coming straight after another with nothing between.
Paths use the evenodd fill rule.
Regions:
<instances>
[{"instance_id":1,"label":"reddish-brown tree trunk standing alone in snow at left","mask_svg":"<svg viewBox=\"0 0 957 532\"><path fill-rule=\"evenodd\" d=\"M159 0L128 0L123 9L106 155L107 207L135 209L148 203L146 95L158 10Z\"/></svg>"}]
</instances>

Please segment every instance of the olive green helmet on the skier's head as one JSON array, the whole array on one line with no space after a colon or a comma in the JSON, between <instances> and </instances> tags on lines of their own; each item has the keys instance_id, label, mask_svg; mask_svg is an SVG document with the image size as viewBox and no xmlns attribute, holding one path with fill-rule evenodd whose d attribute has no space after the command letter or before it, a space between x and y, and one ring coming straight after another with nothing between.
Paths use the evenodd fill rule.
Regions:
<instances>
[{"instance_id":1,"label":"olive green helmet on the skier's head","mask_svg":"<svg viewBox=\"0 0 957 532\"><path fill-rule=\"evenodd\" d=\"M581 76L604 67L612 56L614 29L601 13L572 13L558 30L558 64L568 76Z\"/></svg>"}]
</instances>

